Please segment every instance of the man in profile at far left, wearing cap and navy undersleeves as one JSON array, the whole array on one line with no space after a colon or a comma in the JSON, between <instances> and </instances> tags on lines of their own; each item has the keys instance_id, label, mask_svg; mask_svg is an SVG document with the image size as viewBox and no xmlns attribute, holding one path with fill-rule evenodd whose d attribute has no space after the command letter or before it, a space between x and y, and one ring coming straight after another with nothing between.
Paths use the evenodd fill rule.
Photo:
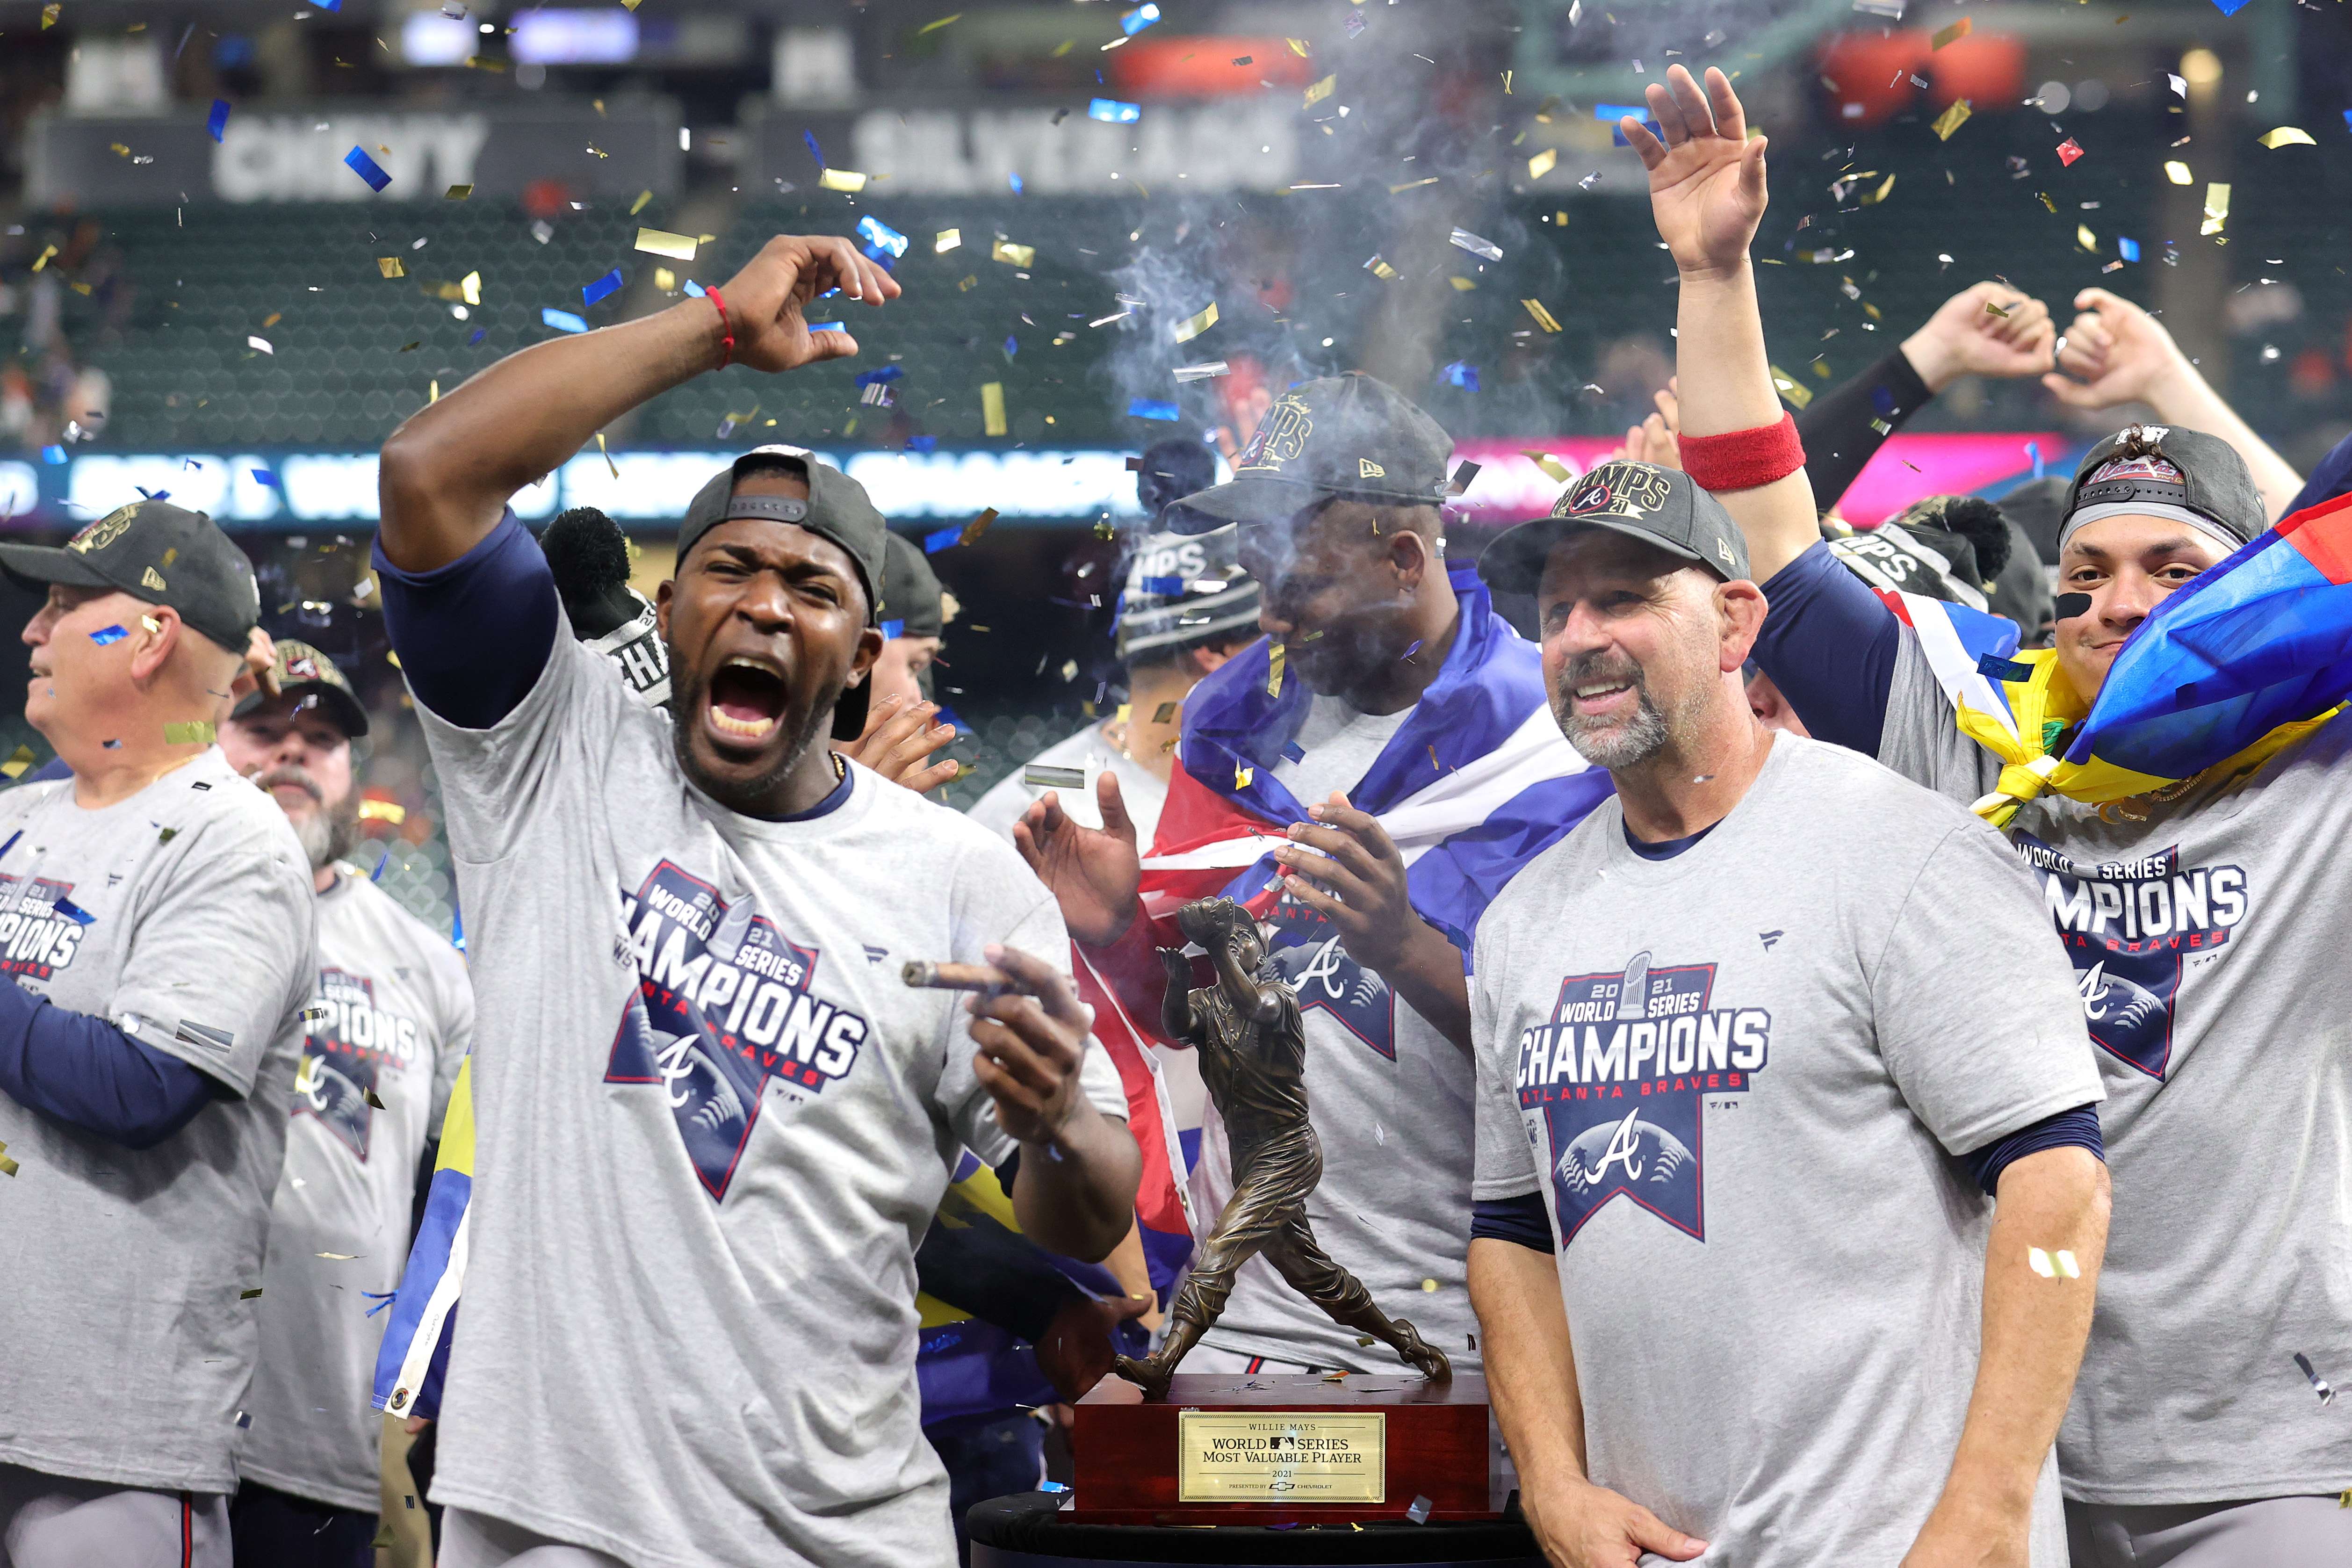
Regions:
<instances>
[{"instance_id":1,"label":"man in profile at far left, wearing cap and navy undersleeves","mask_svg":"<svg viewBox=\"0 0 2352 1568\"><path fill-rule=\"evenodd\" d=\"M167 501L0 569L71 769L0 795L0 1563L226 1568L318 973L301 844L212 745L254 571Z\"/></svg>"}]
</instances>

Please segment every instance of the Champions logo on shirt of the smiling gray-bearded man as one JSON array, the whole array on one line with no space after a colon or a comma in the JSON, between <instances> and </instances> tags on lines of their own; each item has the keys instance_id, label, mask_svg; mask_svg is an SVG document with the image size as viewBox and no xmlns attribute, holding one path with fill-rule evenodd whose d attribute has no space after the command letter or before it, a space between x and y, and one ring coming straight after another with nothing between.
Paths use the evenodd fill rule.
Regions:
<instances>
[{"instance_id":1,"label":"Champions logo on shirt of the smiling gray-bearded man","mask_svg":"<svg viewBox=\"0 0 2352 1568\"><path fill-rule=\"evenodd\" d=\"M1519 1114L1555 1154L1562 1248L1618 1194L1708 1239L1703 1095L1752 1088L1771 1053L1771 1013L1712 1001L1715 964L1639 952L1566 976L1550 1020L1519 1032Z\"/></svg>"}]
</instances>

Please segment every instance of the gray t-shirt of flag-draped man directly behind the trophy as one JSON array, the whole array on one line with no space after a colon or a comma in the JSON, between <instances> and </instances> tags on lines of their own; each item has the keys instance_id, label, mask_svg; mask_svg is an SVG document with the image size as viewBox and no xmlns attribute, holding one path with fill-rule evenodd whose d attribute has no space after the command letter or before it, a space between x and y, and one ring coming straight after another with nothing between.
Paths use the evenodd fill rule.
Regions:
<instances>
[{"instance_id":1,"label":"gray t-shirt of flag-draped man directly behind the trophy","mask_svg":"<svg viewBox=\"0 0 2352 1568\"><path fill-rule=\"evenodd\" d=\"M1367 715L1317 696L1298 726L1301 757L1277 764L1275 778L1301 806L1319 806L1371 771L1409 715ZM1409 1319L1456 1368L1475 1373L1470 1060L1329 929L1279 947L1275 966L1298 992L1308 1030L1308 1110L1324 1150L1322 1182L1308 1194L1315 1239L1383 1312ZM1202 1338L1305 1366L1399 1366L1385 1345L1355 1340L1355 1328L1334 1324L1265 1258L1242 1267L1225 1314Z\"/></svg>"}]
</instances>

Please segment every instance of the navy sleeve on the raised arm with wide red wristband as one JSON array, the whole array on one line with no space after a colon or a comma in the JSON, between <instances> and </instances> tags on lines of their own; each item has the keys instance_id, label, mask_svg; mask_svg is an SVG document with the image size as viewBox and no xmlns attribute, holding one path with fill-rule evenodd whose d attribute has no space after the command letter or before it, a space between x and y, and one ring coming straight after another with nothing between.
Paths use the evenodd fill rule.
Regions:
<instances>
[{"instance_id":1,"label":"navy sleeve on the raised arm with wide red wristband","mask_svg":"<svg viewBox=\"0 0 2352 1568\"><path fill-rule=\"evenodd\" d=\"M1816 741L1879 755L1903 623L1830 545L1813 545L1764 583L1755 661Z\"/></svg>"}]
</instances>

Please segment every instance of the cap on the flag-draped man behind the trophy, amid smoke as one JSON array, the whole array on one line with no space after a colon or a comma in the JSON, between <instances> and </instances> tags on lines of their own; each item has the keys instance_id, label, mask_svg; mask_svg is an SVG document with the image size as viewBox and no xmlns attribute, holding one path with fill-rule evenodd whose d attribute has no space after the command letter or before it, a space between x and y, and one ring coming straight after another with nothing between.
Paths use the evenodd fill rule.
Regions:
<instances>
[{"instance_id":1,"label":"cap on the flag-draped man behind the trophy, amid smoke","mask_svg":"<svg viewBox=\"0 0 2352 1568\"><path fill-rule=\"evenodd\" d=\"M1209 534L1289 522L1327 496L1439 505L1451 454L1446 428L1385 381L1364 371L1301 381L1258 421L1232 477L1176 501L1167 520L1178 534Z\"/></svg>"}]
</instances>

